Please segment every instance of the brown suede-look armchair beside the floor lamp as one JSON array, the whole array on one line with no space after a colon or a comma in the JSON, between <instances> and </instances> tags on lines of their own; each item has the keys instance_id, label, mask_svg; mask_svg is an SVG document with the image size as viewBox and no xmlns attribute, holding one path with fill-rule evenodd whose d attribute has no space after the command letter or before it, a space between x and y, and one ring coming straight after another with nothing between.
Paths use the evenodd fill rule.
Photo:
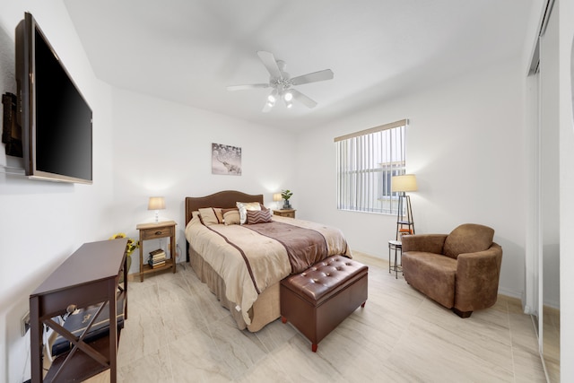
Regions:
<instances>
[{"instance_id":1,"label":"brown suede-look armchair beside the floor lamp","mask_svg":"<svg viewBox=\"0 0 574 383\"><path fill-rule=\"evenodd\" d=\"M404 280L416 290L468 318L496 303L502 248L494 231L465 223L450 234L405 235Z\"/></svg>"}]
</instances>

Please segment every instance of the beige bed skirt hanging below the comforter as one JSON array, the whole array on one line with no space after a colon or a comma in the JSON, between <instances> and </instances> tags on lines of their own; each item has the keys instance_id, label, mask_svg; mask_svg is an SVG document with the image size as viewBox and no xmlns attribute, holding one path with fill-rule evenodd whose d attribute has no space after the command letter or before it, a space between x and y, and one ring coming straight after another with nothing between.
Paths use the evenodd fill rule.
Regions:
<instances>
[{"instance_id":1,"label":"beige bed skirt hanging below the comforter","mask_svg":"<svg viewBox=\"0 0 574 383\"><path fill-rule=\"evenodd\" d=\"M251 324L248 325L243 320L241 312L235 309L237 304L231 302L225 296L225 282L222 277L191 246L189 247L189 264L201 282L207 284L209 290L215 294L222 306L230 310L231 318L235 320L239 330L247 328L248 331L255 333L268 323L281 317L279 305L280 283L274 283L259 294L253 307L248 310L249 318L251 319Z\"/></svg>"}]
</instances>

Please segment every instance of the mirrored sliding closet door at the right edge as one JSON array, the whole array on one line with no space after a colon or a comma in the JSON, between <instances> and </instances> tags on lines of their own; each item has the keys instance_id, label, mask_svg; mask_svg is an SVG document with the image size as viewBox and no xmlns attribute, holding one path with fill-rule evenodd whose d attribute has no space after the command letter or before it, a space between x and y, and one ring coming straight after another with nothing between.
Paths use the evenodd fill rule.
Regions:
<instances>
[{"instance_id":1,"label":"mirrored sliding closet door at the right edge","mask_svg":"<svg viewBox=\"0 0 574 383\"><path fill-rule=\"evenodd\" d=\"M541 352L551 381L560 365L560 116L558 6L540 37ZM559 368L559 367L558 367Z\"/></svg>"}]
</instances>

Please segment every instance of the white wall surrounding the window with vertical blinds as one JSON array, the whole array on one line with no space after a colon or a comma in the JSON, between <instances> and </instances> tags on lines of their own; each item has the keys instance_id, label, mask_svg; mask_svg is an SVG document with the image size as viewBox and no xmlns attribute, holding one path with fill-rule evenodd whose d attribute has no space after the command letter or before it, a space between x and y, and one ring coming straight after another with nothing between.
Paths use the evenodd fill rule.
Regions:
<instances>
[{"instance_id":1,"label":"white wall surrounding the window with vertical blinds","mask_svg":"<svg viewBox=\"0 0 574 383\"><path fill-rule=\"evenodd\" d=\"M300 135L299 216L334 224L352 248L387 258L396 216L336 210L333 139L409 118L407 172L416 174L419 185L410 194L416 232L448 233L465 222L491 226L504 251L500 292L520 297L526 222L524 76L517 57ZM312 172L304 171L309 167Z\"/></svg>"}]
</instances>

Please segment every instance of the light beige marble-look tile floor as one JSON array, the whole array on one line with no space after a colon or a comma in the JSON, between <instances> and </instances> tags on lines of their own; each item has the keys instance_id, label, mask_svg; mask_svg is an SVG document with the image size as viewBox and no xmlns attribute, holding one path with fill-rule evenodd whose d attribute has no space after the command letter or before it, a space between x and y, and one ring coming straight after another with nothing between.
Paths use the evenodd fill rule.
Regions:
<instances>
[{"instance_id":1,"label":"light beige marble-look tile floor","mask_svg":"<svg viewBox=\"0 0 574 383\"><path fill-rule=\"evenodd\" d=\"M386 260L370 266L369 300L311 353L280 319L239 331L191 267L129 285L119 344L120 382L544 382L531 318L518 300L461 319ZM109 381L109 371L91 379Z\"/></svg>"}]
</instances>

